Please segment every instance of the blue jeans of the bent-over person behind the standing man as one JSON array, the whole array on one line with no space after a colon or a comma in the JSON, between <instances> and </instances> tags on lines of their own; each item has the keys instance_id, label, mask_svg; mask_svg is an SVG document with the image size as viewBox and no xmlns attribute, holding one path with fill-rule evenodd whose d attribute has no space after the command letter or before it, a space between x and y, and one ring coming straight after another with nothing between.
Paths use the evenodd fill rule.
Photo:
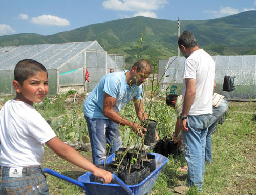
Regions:
<instances>
[{"instance_id":1,"label":"blue jeans of the bent-over person behind the standing man","mask_svg":"<svg viewBox=\"0 0 256 195\"><path fill-rule=\"evenodd\" d=\"M211 161L212 161L211 131L226 111L227 111L227 101L225 100L225 98L222 99L218 107L213 107L213 114L212 114L212 118L210 119L208 132L206 135L205 163L207 164L211 164Z\"/></svg>"}]
</instances>

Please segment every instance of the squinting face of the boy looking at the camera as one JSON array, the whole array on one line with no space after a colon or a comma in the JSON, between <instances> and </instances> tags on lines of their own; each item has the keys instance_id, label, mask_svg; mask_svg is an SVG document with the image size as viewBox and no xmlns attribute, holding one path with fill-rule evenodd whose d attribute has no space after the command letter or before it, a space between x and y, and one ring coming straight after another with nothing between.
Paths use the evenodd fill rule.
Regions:
<instances>
[{"instance_id":1,"label":"squinting face of the boy looking at the camera","mask_svg":"<svg viewBox=\"0 0 256 195\"><path fill-rule=\"evenodd\" d=\"M45 71L37 72L36 75L26 79L22 86L18 83L18 88L15 88L15 90L18 92L17 97L20 101L32 106L34 102L42 102L49 92L47 73Z\"/></svg>"}]
</instances>

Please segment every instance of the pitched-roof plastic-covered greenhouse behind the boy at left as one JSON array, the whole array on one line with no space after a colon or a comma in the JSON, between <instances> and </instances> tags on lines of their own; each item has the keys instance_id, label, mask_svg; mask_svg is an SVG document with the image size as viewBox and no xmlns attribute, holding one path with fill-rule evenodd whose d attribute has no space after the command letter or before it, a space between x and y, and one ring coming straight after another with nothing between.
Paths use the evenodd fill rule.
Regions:
<instances>
[{"instance_id":1,"label":"pitched-roof plastic-covered greenhouse behind the boy at left","mask_svg":"<svg viewBox=\"0 0 256 195\"><path fill-rule=\"evenodd\" d=\"M0 94L15 94L13 71L20 60L34 59L48 71L49 94L92 91L99 80L124 70L124 55L109 55L97 41L0 47ZM86 69L89 82L85 81Z\"/></svg>"}]
</instances>

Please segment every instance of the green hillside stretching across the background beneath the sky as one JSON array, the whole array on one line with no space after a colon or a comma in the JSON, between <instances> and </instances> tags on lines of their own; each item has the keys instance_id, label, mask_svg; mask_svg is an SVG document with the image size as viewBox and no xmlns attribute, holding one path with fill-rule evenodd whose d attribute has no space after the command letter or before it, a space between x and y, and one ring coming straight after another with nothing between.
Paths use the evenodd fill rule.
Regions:
<instances>
[{"instance_id":1,"label":"green hillside stretching across the background beneath the sky","mask_svg":"<svg viewBox=\"0 0 256 195\"><path fill-rule=\"evenodd\" d=\"M256 55L256 11L210 20L181 20L181 32L194 33L198 45L211 55ZM137 53L134 44L143 33L142 55L168 59L177 55L177 21L133 17L88 25L54 35L15 34L0 36L0 46L48 44L97 40L109 54L124 54L132 64Z\"/></svg>"}]
</instances>

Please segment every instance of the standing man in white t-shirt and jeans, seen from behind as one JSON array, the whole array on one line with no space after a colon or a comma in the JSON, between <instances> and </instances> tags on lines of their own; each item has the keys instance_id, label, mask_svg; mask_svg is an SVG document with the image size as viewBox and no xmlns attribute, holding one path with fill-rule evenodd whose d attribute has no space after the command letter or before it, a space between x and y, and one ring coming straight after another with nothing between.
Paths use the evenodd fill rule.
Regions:
<instances>
[{"instance_id":1,"label":"standing man in white t-shirt and jeans, seen from behind","mask_svg":"<svg viewBox=\"0 0 256 195\"><path fill-rule=\"evenodd\" d=\"M186 185L196 185L202 192L206 134L212 116L215 62L208 53L198 47L194 35L188 31L181 34L178 46L186 58L180 115L185 159L189 169ZM188 187L179 186L174 190L185 192L189 190Z\"/></svg>"}]
</instances>

